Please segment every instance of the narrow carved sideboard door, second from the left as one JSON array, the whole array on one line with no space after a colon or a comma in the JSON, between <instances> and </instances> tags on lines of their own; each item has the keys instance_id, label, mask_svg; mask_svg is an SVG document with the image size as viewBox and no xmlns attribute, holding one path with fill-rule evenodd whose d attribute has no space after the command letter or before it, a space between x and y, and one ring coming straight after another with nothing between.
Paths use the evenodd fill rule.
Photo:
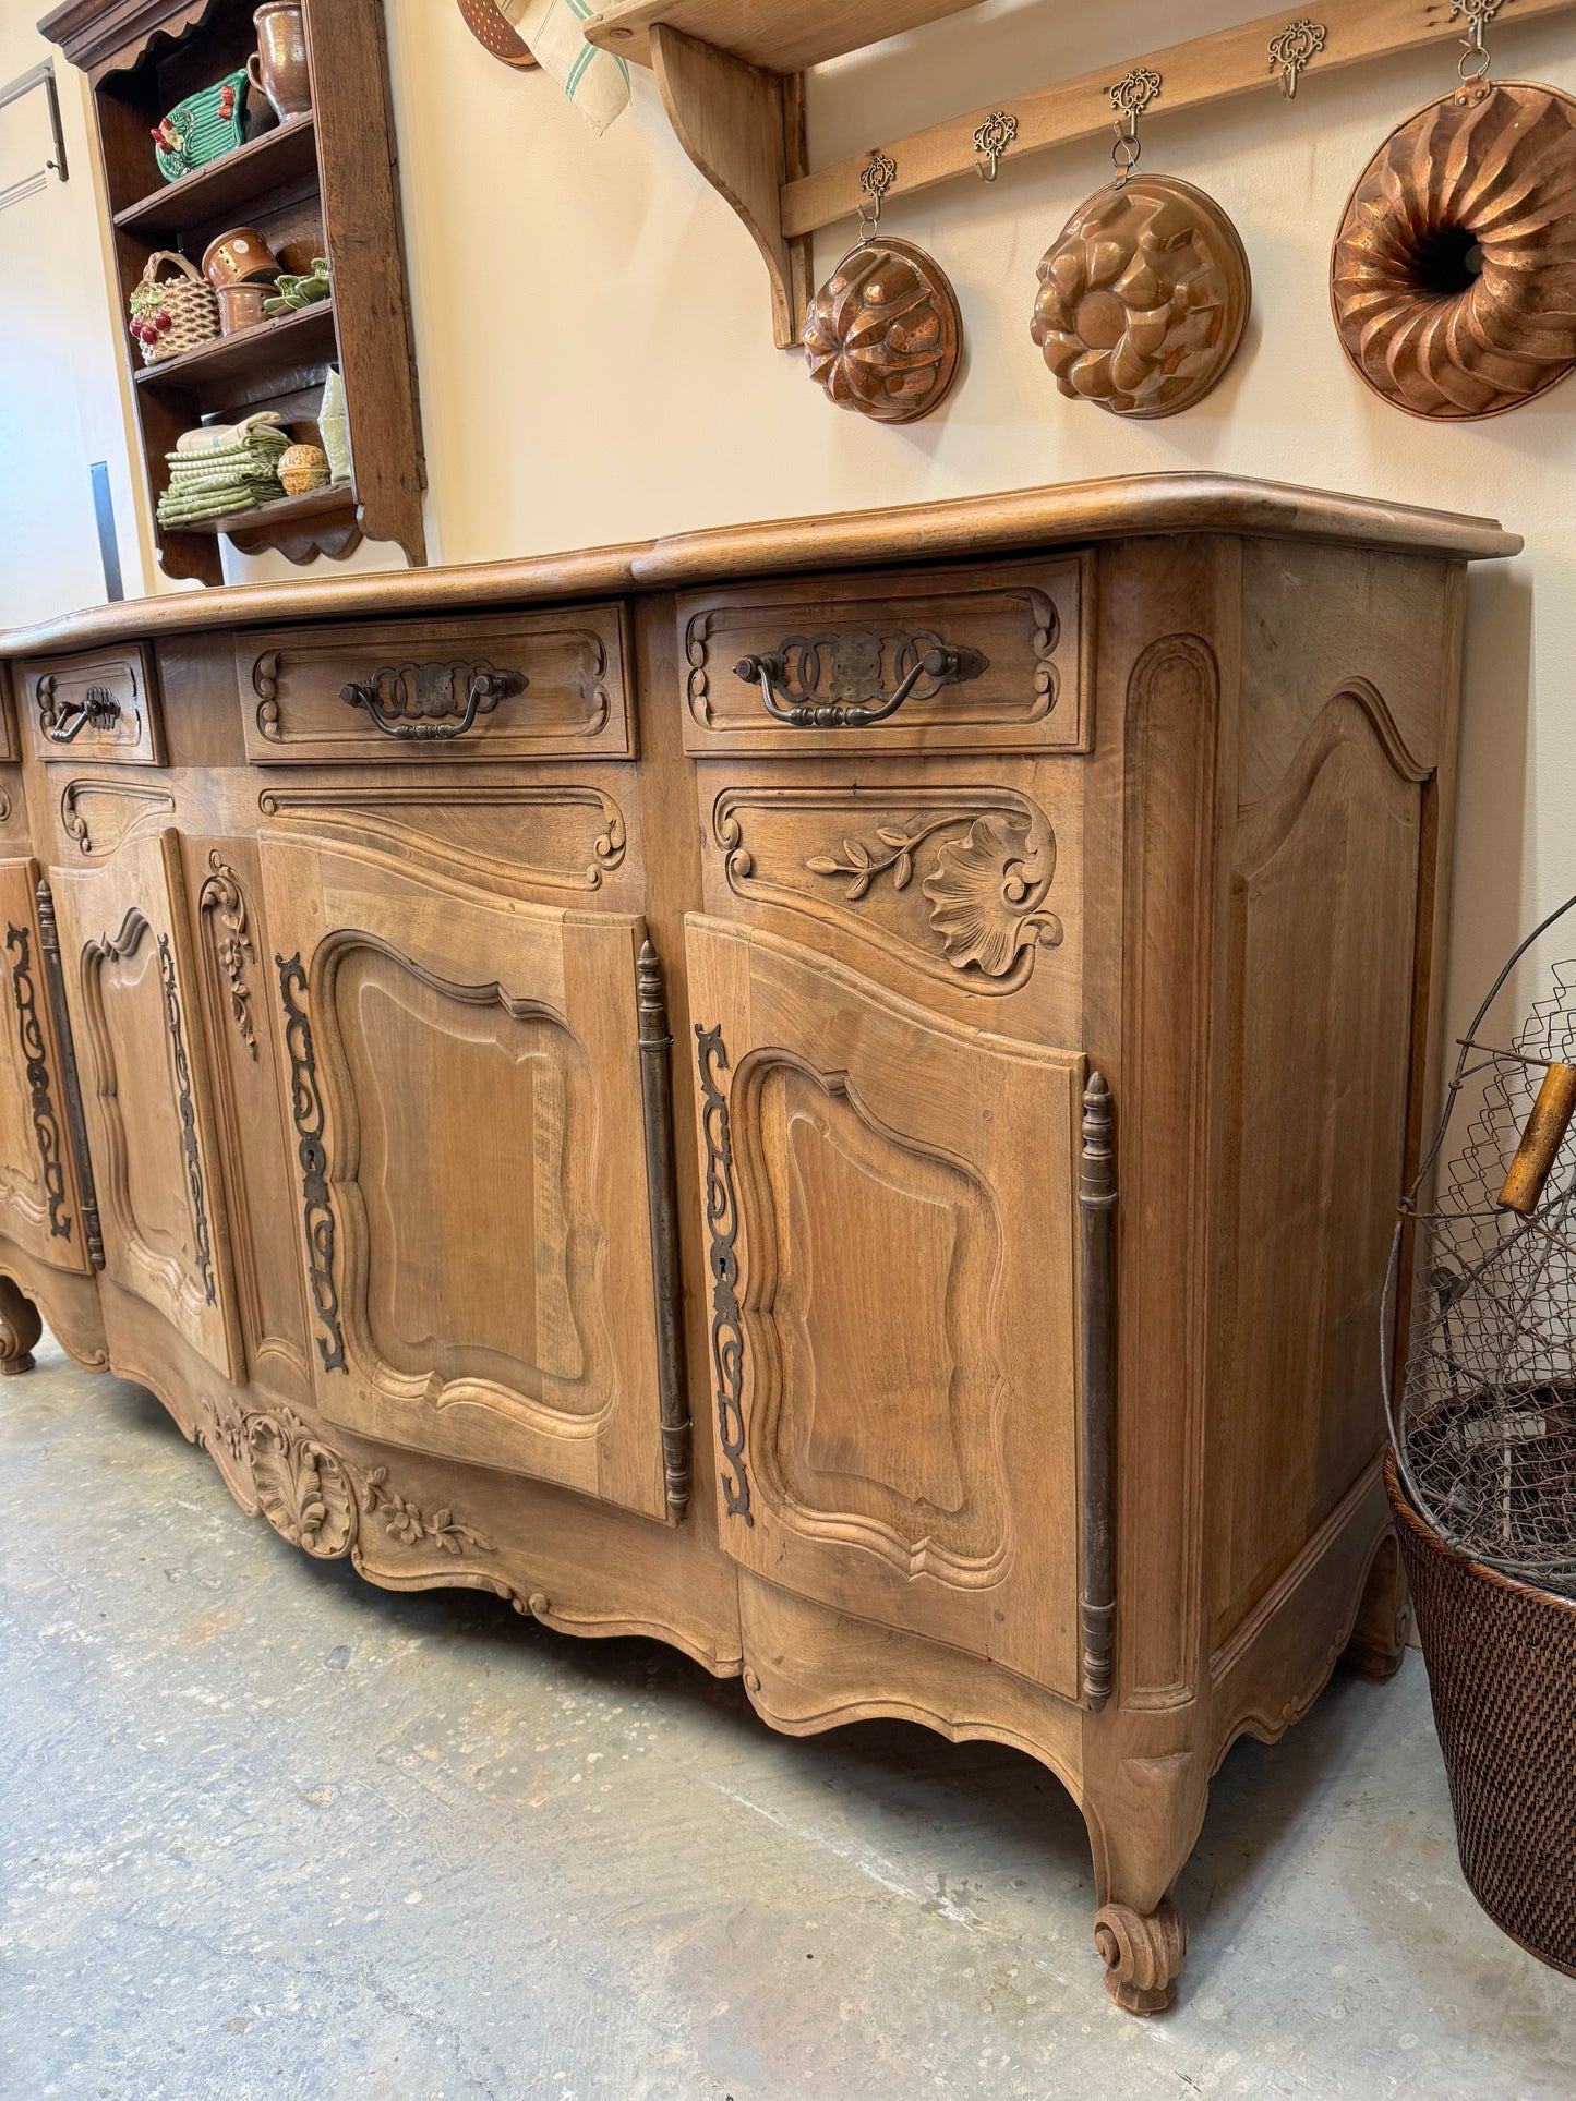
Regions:
<instances>
[{"instance_id":1,"label":"narrow carved sideboard door, second from the left","mask_svg":"<svg viewBox=\"0 0 1576 2101\"><path fill-rule=\"evenodd\" d=\"M242 1376L191 916L172 830L53 870L105 1275Z\"/></svg>"}]
</instances>

